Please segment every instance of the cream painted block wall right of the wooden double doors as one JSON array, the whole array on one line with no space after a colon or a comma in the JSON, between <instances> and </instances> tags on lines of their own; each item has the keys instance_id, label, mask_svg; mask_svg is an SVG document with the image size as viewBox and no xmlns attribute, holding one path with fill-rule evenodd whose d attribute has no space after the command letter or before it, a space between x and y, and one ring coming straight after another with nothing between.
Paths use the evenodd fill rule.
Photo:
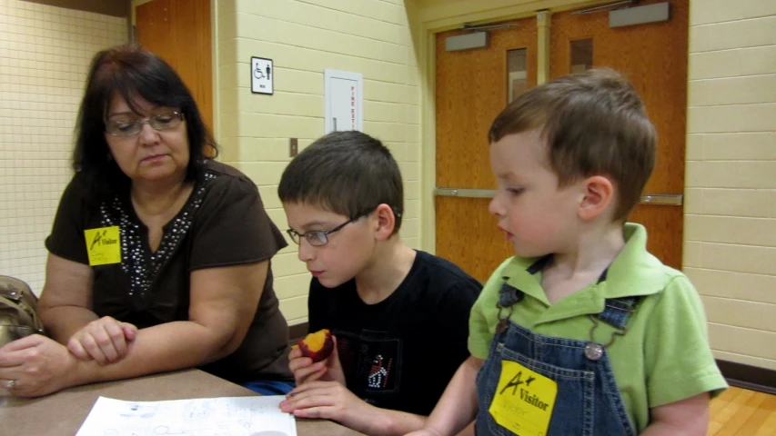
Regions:
<instances>
[{"instance_id":1,"label":"cream painted block wall right of the wooden double doors","mask_svg":"<svg viewBox=\"0 0 776 436\"><path fill-rule=\"evenodd\" d=\"M692 0L684 272L717 358L776 370L776 2Z\"/></svg>"}]
</instances>

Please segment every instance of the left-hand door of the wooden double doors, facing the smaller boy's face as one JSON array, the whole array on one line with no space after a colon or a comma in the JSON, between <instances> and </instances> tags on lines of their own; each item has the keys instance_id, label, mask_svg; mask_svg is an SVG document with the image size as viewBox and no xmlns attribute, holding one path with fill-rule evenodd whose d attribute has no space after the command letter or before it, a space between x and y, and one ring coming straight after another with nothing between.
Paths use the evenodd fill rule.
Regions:
<instances>
[{"instance_id":1,"label":"left-hand door of the wooden double doors, facing the smaller boy's face","mask_svg":"<svg viewBox=\"0 0 776 436\"><path fill-rule=\"evenodd\" d=\"M509 82L515 93L536 84L537 26L535 18L510 22L516 26L490 30L490 45L447 52L445 38L464 31L437 35L437 186L491 190L488 130L506 107ZM509 51L525 54L525 80L509 80ZM512 254L488 213L489 198L435 197L436 253L458 264L480 282Z\"/></svg>"}]
</instances>

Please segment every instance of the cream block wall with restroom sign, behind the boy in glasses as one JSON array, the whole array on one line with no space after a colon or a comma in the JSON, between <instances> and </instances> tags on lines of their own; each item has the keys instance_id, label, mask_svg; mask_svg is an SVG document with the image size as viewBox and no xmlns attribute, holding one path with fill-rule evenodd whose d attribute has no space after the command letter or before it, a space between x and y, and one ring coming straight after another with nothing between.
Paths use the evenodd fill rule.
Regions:
<instances>
[{"instance_id":1,"label":"cream block wall with restroom sign, behind the boy in glasses","mask_svg":"<svg viewBox=\"0 0 776 436\"><path fill-rule=\"evenodd\" d=\"M222 160L257 183L270 217L285 230L277 183L290 161L288 140L298 138L301 151L324 134L324 69L363 74L364 131L398 160L405 182L401 235L418 247L420 91L407 10L413 6L402 0L271 3L217 2ZM251 56L273 59L274 95L251 94ZM310 275L297 246L290 243L272 267L289 324L307 321Z\"/></svg>"}]
</instances>

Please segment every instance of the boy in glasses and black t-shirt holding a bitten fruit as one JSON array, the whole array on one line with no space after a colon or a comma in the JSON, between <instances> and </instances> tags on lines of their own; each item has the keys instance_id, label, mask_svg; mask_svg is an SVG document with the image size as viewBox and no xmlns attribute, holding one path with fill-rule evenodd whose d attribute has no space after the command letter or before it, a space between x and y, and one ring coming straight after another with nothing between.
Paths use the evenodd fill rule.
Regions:
<instances>
[{"instance_id":1,"label":"boy in glasses and black t-shirt holding a bitten fruit","mask_svg":"<svg viewBox=\"0 0 776 436\"><path fill-rule=\"evenodd\" d=\"M281 409L370 435L418 430L469 355L481 285L401 242L398 164L367 134L318 139L288 164L278 193L313 274L309 330L337 341L322 362L291 352L297 389Z\"/></svg>"}]
</instances>

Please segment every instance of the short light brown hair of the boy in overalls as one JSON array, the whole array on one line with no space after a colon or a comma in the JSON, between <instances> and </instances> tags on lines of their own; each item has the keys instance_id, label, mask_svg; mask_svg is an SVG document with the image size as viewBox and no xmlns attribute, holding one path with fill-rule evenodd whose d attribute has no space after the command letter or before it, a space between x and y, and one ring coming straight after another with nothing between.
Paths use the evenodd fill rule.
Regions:
<instances>
[{"instance_id":1,"label":"short light brown hair of the boy in overalls","mask_svg":"<svg viewBox=\"0 0 776 436\"><path fill-rule=\"evenodd\" d=\"M657 142L628 80L610 69L592 69L531 88L496 117L488 139L492 144L535 129L547 141L559 185L609 176L616 183L614 221L625 221L650 179Z\"/></svg>"}]
</instances>

